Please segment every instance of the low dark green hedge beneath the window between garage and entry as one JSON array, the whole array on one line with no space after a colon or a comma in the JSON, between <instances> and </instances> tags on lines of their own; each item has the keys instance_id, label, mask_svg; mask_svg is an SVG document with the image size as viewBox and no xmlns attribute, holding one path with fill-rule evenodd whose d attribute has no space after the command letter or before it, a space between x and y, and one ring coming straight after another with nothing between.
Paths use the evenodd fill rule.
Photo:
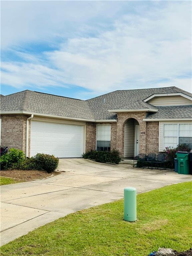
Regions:
<instances>
[{"instance_id":1,"label":"low dark green hedge beneath the window between garage and entry","mask_svg":"<svg viewBox=\"0 0 192 256\"><path fill-rule=\"evenodd\" d=\"M118 164L121 161L119 151L115 149L111 150L111 152L91 150L87 153L84 153L82 157L100 163Z\"/></svg>"}]
</instances>

